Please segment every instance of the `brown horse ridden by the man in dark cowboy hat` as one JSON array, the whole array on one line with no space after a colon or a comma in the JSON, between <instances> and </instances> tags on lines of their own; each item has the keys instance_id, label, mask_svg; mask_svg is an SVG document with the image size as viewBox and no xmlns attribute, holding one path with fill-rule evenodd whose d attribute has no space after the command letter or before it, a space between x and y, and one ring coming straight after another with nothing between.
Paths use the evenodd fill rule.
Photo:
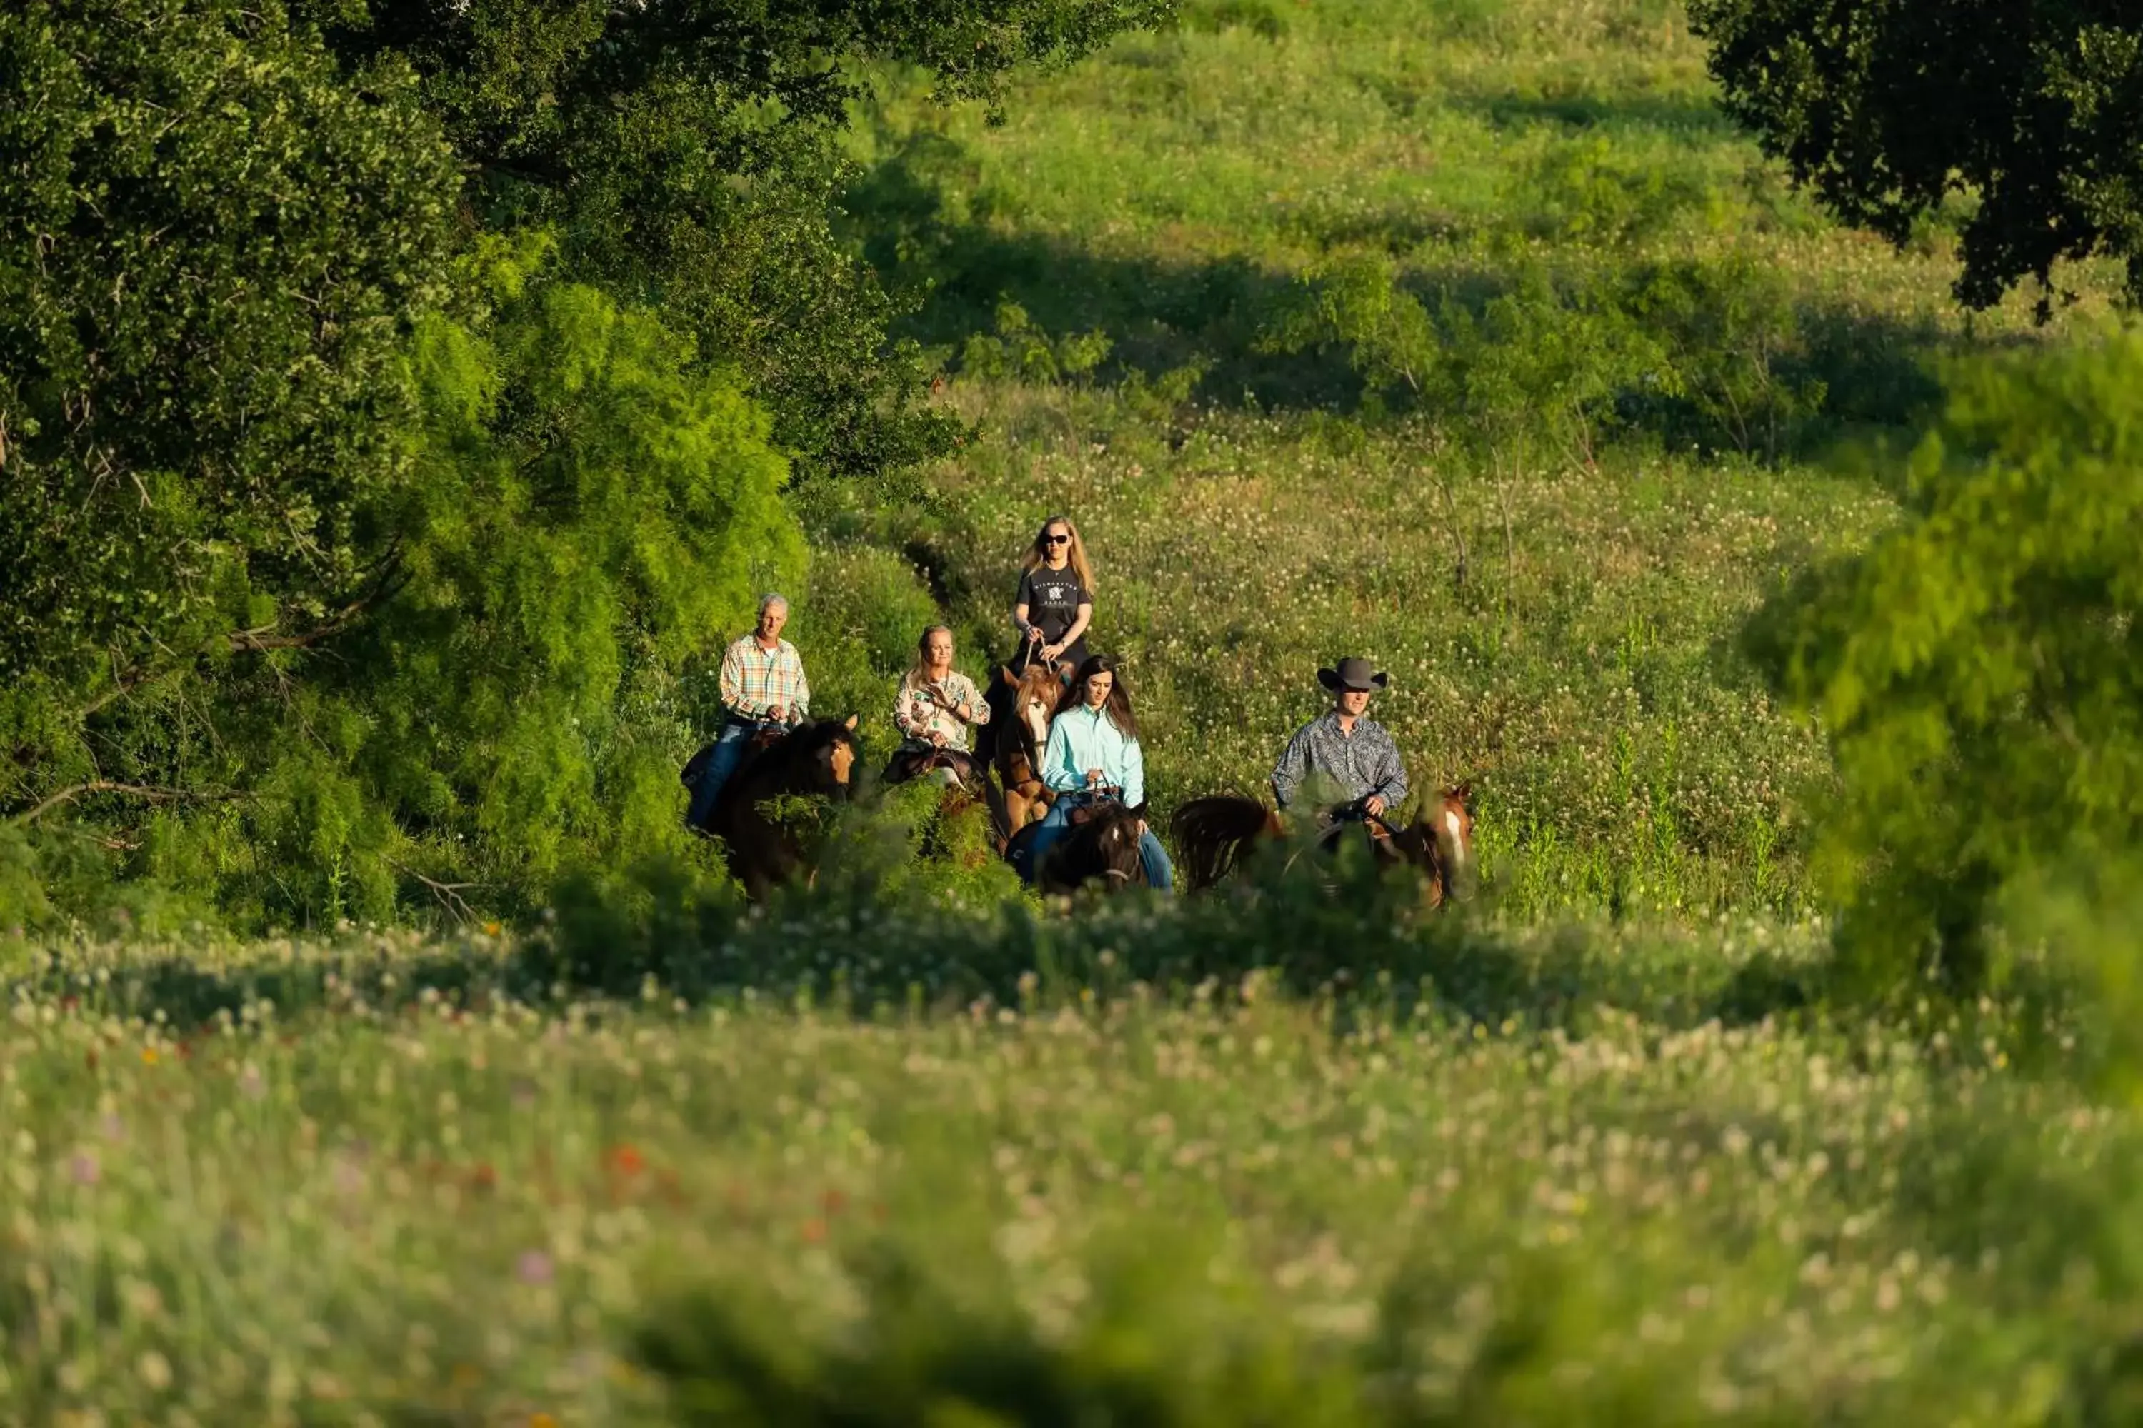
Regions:
<instances>
[{"instance_id":1,"label":"brown horse ridden by the man in dark cowboy hat","mask_svg":"<svg viewBox=\"0 0 2143 1428\"><path fill-rule=\"evenodd\" d=\"M1459 880L1472 867L1472 786L1455 784L1432 799L1432 807L1414 814L1414 822L1395 829L1382 818L1361 811L1333 820L1318 831L1318 848L1331 852L1354 822L1369 833L1369 850L1378 867L1408 865L1427 876L1427 901L1442 908L1459 897ZM1209 794L1192 799L1170 820L1177 835L1177 856L1187 891L1209 888L1241 867L1249 850L1262 841L1279 841L1286 829L1279 814L1243 794Z\"/></svg>"}]
</instances>

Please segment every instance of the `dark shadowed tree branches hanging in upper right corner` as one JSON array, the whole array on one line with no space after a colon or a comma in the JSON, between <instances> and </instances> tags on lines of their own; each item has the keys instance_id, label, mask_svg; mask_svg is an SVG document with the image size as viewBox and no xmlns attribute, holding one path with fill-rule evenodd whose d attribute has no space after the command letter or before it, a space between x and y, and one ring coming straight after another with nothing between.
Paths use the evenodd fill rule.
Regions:
<instances>
[{"instance_id":1,"label":"dark shadowed tree branches hanging in upper right corner","mask_svg":"<svg viewBox=\"0 0 2143 1428\"><path fill-rule=\"evenodd\" d=\"M1693 0L1725 107L1843 221L1903 244L1948 195L1959 300L2107 253L2143 298L2143 21L2107 0Z\"/></svg>"}]
</instances>

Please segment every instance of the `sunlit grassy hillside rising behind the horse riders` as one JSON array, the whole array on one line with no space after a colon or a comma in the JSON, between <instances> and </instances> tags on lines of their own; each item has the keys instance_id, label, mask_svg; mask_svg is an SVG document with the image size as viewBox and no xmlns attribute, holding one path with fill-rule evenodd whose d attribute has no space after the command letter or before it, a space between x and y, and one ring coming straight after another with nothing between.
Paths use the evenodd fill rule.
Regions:
<instances>
[{"instance_id":1,"label":"sunlit grassy hillside rising behind the horse riders","mask_svg":"<svg viewBox=\"0 0 2143 1428\"><path fill-rule=\"evenodd\" d=\"M924 589L969 668L1005 655L1067 512L1164 809L1262 788L1361 651L1417 781L1474 779L1513 910L1798 906L1826 764L1734 632L1888 518L1819 456L1907 432L1929 358L2042 334L1957 315L1939 225L1826 225L1708 94L1637 0L1192 4L1001 124L883 77L853 231L984 435L921 501L814 507L799 627L879 651L829 698L887 707L881 612ZM1275 351L1378 263L1436 330L1419 396L1359 343Z\"/></svg>"}]
</instances>

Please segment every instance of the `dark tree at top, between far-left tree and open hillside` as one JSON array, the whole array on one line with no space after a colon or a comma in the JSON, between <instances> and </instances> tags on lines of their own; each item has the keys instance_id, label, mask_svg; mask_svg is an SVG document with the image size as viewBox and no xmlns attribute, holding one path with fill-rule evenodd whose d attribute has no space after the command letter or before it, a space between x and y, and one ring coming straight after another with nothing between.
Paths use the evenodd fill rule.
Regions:
<instances>
[{"instance_id":1,"label":"dark tree at top, between far-left tree and open hillside","mask_svg":"<svg viewBox=\"0 0 2143 1428\"><path fill-rule=\"evenodd\" d=\"M735 362L799 475L943 454L894 304L831 229L861 69L992 96L1166 15L1170 0L298 0L358 64L407 60L493 227L546 225L561 272L660 306Z\"/></svg>"}]
</instances>

